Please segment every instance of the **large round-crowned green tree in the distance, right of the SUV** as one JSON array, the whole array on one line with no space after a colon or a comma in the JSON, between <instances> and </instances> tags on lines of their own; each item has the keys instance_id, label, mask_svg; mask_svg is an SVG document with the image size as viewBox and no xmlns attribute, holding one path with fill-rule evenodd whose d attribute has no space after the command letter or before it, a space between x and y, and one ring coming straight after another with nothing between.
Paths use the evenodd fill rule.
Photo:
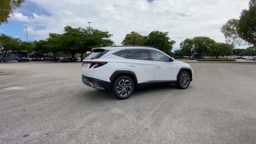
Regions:
<instances>
[{"instance_id":1,"label":"large round-crowned green tree in the distance, right of the SUV","mask_svg":"<svg viewBox=\"0 0 256 144\"><path fill-rule=\"evenodd\" d=\"M212 55L218 50L218 44L211 38L205 36L197 36L193 39L194 52L202 55Z\"/></svg>"}]
</instances>

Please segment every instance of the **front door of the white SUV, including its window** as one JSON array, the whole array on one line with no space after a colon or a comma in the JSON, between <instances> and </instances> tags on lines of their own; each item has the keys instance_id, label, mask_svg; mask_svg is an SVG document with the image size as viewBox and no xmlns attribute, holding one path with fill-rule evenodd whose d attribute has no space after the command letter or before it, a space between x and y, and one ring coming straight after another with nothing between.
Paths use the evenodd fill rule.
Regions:
<instances>
[{"instance_id":1,"label":"front door of the white SUV, including its window","mask_svg":"<svg viewBox=\"0 0 256 144\"><path fill-rule=\"evenodd\" d=\"M176 64L170 62L166 54L157 50L149 50L154 63L154 81L176 80Z\"/></svg>"}]
</instances>

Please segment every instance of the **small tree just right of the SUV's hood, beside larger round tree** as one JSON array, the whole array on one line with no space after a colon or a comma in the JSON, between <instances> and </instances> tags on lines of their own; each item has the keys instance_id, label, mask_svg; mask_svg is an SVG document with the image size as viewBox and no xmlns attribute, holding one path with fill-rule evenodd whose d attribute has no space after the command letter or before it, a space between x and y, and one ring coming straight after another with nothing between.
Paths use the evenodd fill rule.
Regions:
<instances>
[{"instance_id":1,"label":"small tree just right of the SUV's hood, beside larger round tree","mask_svg":"<svg viewBox=\"0 0 256 144\"><path fill-rule=\"evenodd\" d=\"M194 44L192 39L185 39L180 43L180 54L183 56L192 56L194 53Z\"/></svg>"}]
</instances>

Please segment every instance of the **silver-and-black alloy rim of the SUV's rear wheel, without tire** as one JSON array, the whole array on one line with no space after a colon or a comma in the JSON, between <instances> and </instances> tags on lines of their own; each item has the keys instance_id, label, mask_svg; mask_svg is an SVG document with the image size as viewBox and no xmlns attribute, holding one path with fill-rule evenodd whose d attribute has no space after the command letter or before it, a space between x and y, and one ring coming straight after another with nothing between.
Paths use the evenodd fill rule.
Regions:
<instances>
[{"instance_id":1,"label":"silver-and-black alloy rim of the SUV's rear wheel, without tire","mask_svg":"<svg viewBox=\"0 0 256 144\"><path fill-rule=\"evenodd\" d=\"M120 96L127 96L132 91L132 83L130 80L120 80L116 86L116 91Z\"/></svg>"}]
</instances>

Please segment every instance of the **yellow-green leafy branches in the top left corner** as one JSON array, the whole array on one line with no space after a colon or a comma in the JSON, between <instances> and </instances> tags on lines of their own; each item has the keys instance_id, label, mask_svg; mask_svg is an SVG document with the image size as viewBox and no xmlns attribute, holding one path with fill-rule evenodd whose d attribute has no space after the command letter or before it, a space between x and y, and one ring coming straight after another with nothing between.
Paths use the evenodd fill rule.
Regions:
<instances>
[{"instance_id":1,"label":"yellow-green leafy branches in the top left corner","mask_svg":"<svg viewBox=\"0 0 256 144\"><path fill-rule=\"evenodd\" d=\"M0 25L8 22L7 19L10 18L10 14L20 7L22 2L24 0L0 0Z\"/></svg>"}]
</instances>

